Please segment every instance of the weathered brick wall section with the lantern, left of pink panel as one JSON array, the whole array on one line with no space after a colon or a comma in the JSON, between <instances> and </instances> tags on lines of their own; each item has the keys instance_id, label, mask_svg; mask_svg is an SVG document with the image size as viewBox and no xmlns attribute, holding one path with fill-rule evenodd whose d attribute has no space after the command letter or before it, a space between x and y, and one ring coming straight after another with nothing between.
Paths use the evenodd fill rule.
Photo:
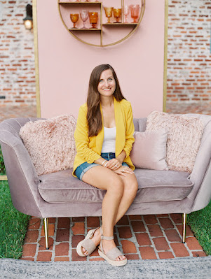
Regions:
<instances>
[{"instance_id":1,"label":"weathered brick wall section with the lantern, left of pink panel","mask_svg":"<svg viewBox=\"0 0 211 279\"><path fill-rule=\"evenodd\" d=\"M0 1L0 105L36 104L34 35L22 20L27 3Z\"/></svg>"}]
</instances>

